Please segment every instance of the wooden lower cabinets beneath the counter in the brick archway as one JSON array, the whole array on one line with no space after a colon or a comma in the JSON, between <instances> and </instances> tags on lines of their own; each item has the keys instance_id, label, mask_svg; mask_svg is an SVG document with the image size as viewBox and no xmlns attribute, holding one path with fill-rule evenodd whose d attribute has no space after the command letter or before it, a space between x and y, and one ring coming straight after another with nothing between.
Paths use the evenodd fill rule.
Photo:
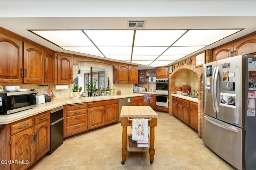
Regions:
<instances>
[{"instance_id":1,"label":"wooden lower cabinets beneath the counter in the brick archway","mask_svg":"<svg viewBox=\"0 0 256 170\"><path fill-rule=\"evenodd\" d=\"M172 97L172 115L198 130L198 103Z\"/></svg>"}]
</instances>

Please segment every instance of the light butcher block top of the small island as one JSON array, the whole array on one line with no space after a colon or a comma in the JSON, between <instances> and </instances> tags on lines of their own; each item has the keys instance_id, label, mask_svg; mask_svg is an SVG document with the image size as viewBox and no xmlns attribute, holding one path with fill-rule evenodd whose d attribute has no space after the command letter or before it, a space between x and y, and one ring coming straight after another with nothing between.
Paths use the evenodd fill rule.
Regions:
<instances>
[{"instance_id":1,"label":"light butcher block top of the small island","mask_svg":"<svg viewBox=\"0 0 256 170\"><path fill-rule=\"evenodd\" d=\"M150 106L122 106L120 117L158 118L158 114Z\"/></svg>"}]
</instances>

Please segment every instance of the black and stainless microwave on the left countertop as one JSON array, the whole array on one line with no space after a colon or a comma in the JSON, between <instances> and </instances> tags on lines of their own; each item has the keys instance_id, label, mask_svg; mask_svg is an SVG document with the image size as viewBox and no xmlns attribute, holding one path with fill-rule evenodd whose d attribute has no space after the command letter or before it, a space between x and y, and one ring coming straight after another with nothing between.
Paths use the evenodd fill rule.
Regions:
<instances>
[{"instance_id":1,"label":"black and stainless microwave on the left countertop","mask_svg":"<svg viewBox=\"0 0 256 170\"><path fill-rule=\"evenodd\" d=\"M7 115L36 107L36 91L0 93L0 115Z\"/></svg>"}]
</instances>

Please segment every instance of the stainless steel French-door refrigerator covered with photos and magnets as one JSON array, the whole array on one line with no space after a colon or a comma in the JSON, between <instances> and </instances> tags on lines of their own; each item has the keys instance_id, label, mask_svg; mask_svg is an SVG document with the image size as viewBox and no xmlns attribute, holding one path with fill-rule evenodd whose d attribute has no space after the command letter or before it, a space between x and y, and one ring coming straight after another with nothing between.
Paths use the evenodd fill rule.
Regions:
<instances>
[{"instance_id":1,"label":"stainless steel French-door refrigerator covered with photos and magnets","mask_svg":"<svg viewBox=\"0 0 256 170\"><path fill-rule=\"evenodd\" d=\"M203 65L204 145L238 170L256 169L256 57Z\"/></svg>"}]
</instances>

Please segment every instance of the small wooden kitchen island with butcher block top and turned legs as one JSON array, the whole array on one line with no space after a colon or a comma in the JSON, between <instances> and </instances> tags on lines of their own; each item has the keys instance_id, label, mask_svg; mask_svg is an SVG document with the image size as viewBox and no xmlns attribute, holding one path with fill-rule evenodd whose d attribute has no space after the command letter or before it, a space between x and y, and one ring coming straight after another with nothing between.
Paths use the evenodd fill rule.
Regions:
<instances>
[{"instance_id":1,"label":"small wooden kitchen island with butcher block top and turned legs","mask_svg":"<svg viewBox=\"0 0 256 170\"><path fill-rule=\"evenodd\" d=\"M150 163L154 161L154 140L155 140L155 128L157 126L158 115L150 106L123 106L120 114L121 125L123 127L122 132L122 164L126 161L127 151L139 152L149 151ZM144 118L148 119L148 125L150 126L149 135L149 149L148 148L130 148L127 139L127 126L132 126L132 119Z\"/></svg>"}]
</instances>

